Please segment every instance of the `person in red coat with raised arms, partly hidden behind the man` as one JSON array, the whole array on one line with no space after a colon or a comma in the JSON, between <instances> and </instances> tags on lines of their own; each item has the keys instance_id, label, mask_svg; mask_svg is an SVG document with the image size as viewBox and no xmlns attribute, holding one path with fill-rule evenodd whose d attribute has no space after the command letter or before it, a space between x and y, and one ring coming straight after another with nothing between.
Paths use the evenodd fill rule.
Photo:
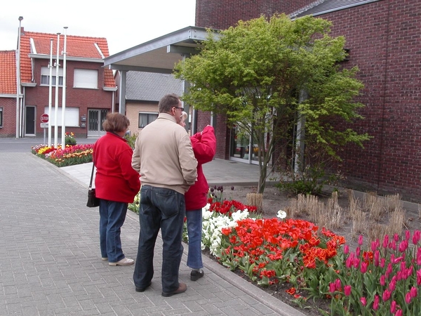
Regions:
<instances>
[{"instance_id":1,"label":"person in red coat with raised arms, partly hidden behind the man","mask_svg":"<svg viewBox=\"0 0 421 316\"><path fill-rule=\"evenodd\" d=\"M182 112L181 126L185 126L187 113ZM215 131L212 126L206 126L203 131L190 137L194 157L197 159L197 180L185 193L187 236L189 238L189 254L187 266L192 268L190 279L196 281L205 274L201 258L202 208L208 199L208 181L203 174L202 165L211 162L216 152Z\"/></svg>"}]
</instances>

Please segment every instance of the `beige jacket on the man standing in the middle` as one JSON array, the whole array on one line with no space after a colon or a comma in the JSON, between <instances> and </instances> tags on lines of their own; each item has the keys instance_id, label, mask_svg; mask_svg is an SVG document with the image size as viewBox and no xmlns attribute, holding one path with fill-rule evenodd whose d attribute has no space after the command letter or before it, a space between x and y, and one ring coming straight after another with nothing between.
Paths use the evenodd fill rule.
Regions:
<instances>
[{"instance_id":1,"label":"beige jacket on the man standing in the middle","mask_svg":"<svg viewBox=\"0 0 421 316\"><path fill-rule=\"evenodd\" d=\"M158 118L140 131L132 157L133 169L142 185L166 187L185 194L197 178L190 137L170 114Z\"/></svg>"}]
</instances>

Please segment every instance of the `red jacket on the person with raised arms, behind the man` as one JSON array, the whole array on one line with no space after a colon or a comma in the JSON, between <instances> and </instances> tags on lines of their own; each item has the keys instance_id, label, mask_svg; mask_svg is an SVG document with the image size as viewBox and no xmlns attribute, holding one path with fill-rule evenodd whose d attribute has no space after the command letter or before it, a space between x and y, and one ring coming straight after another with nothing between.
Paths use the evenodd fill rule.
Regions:
<instances>
[{"instance_id":1,"label":"red jacket on the person with raised arms, behind the man","mask_svg":"<svg viewBox=\"0 0 421 316\"><path fill-rule=\"evenodd\" d=\"M186 211L201 209L207 203L208 181L203 174L202 164L211 162L216 152L216 138L213 127L208 125L201 133L192 137L194 157L197 159L197 180L185 193Z\"/></svg>"}]
</instances>

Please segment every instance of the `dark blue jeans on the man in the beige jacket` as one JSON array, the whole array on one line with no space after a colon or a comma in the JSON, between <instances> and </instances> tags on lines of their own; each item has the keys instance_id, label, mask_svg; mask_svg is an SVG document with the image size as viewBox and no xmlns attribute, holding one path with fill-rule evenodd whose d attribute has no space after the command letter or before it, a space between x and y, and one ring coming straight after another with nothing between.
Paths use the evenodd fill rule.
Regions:
<instances>
[{"instance_id":1,"label":"dark blue jeans on the man in the beige jacket","mask_svg":"<svg viewBox=\"0 0 421 316\"><path fill-rule=\"evenodd\" d=\"M161 228L162 291L169 293L180 286L182 225L185 217L184 195L163 187L142 185L139 206L139 246L133 281L135 287L145 288L154 276L154 247Z\"/></svg>"}]
</instances>

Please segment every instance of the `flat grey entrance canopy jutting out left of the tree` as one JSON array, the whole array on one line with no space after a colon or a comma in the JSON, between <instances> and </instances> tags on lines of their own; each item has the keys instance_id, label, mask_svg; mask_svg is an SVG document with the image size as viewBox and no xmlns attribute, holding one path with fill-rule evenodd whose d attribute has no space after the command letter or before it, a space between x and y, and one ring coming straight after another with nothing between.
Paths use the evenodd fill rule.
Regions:
<instances>
[{"instance_id":1,"label":"flat grey entrance canopy jutting out left of the tree","mask_svg":"<svg viewBox=\"0 0 421 316\"><path fill-rule=\"evenodd\" d=\"M213 30L217 34L216 30ZM208 37L206 28L185 27L104 59L104 66L112 70L157 72L171 74L175 63L184 55L197 52Z\"/></svg>"}]
</instances>

